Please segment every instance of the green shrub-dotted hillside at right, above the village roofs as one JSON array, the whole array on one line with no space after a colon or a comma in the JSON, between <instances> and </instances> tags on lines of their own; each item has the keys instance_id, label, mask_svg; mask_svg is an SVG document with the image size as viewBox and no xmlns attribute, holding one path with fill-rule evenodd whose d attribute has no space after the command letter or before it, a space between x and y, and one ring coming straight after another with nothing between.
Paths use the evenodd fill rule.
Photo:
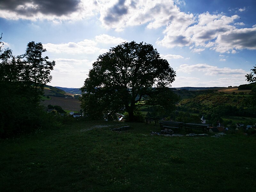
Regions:
<instances>
[{"instance_id":1,"label":"green shrub-dotted hillside at right, above the village roofs","mask_svg":"<svg viewBox=\"0 0 256 192\"><path fill-rule=\"evenodd\" d=\"M225 92L203 93L192 98L180 101L178 110L200 113L218 114L220 116L255 117L256 110L253 104L254 94L246 94L243 90L227 94Z\"/></svg>"}]
</instances>

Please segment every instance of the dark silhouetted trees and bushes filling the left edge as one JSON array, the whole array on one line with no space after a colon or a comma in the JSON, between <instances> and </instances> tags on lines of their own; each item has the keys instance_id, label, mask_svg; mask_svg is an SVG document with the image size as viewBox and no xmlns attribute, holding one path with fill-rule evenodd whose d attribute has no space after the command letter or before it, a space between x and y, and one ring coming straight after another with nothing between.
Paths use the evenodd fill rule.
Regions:
<instances>
[{"instance_id":1,"label":"dark silhouetted trees and bushes filling the left edge","mask_svg":"<svg viewBox=\"0 0 256 192\"><path fill-rule=\"evenodd\" d=\"M7 137L44 124L45 112L39 102L55 62L42 58L46 50L41 43L28 43L26 53L18 57L0 44L0 137Z\"/></svg>"}]
</instances>

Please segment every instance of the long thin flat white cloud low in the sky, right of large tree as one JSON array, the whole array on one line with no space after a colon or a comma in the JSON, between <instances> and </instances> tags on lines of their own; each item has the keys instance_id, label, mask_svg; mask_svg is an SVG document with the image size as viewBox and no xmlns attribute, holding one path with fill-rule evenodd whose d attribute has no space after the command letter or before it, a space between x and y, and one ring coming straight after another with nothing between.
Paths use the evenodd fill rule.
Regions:
<instances>
[{"instance_id":1,"label":"long thin flat white cloud low in the sky, right of large tree","mask_svg":"<svg viewBox=\"0 0 256 192\"><path fill-rule=\"evenodd\" d=\"M231 69L231 68L218 68L216 66L211 66L207 64L196 64L196 65L188 65L183 64L180 65L177 71L182 71L185 73L191 73L194 71L202 71L204 75L221 75L221 76L243 76L246 74L246 71L243 69Z\"/></svg>"}]
</instances>

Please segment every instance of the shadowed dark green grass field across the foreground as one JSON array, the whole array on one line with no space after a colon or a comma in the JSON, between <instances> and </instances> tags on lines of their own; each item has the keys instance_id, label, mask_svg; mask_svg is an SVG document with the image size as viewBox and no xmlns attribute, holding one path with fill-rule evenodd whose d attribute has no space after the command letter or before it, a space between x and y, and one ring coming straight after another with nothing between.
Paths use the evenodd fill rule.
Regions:
<instances>
[{"instance_id":1,"label":"shadowed dark green grass field across the foreground","mask_svg":"<svg viewBox=\"0 0 256 192\"><path fill-rule=\"evenodd\" d=\"M0 191L256 191L256 137L150 135L159 129L76 120L0 140Z\"/></svg>"}]
</instances>

